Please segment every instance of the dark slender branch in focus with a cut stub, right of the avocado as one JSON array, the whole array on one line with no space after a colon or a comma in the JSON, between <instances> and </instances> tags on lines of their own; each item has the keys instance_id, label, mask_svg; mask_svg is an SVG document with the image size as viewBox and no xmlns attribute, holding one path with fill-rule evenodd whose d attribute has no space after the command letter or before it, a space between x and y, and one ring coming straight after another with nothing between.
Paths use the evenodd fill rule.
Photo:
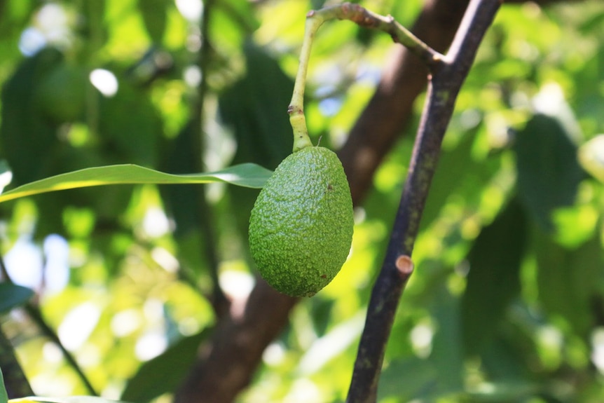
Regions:
<instances>
[{"instance_id":1,"label":"dark slender branch in focus with a cut stub, right of the avocado","mask_svg":"<svg viewBox=\"0 0 604 403\"><path fill-rule=\"evenodd\" d=\"M470 1L451 50L434 69L432 80L429 81L409 176L401 196L386 257L371 293L347 402L376 401L385 347L401 294L411 275L413 266L408 261L437 166L441 141L453 114L455 98L499 6L498 0Z\"/></svg>"}]
</instances>

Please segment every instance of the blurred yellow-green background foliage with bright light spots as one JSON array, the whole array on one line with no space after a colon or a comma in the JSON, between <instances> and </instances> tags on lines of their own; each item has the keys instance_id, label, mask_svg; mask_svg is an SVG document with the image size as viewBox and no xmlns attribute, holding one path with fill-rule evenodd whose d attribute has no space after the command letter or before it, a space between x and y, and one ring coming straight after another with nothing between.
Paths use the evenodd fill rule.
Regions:
<instances>
[{"instance_id":1,"label":"blurred yellow-green background foliage with bright light spots","mask_svg":"<svg viewBox=\"0 0 604 403\"><path fill-rule=\"evenodd\" d=\"M8 172L12 187L111 163L274 169L291 150L304 17L322 5L0 1L2 185ZM423 2L362 5L409 27ZM322 27L306 107L313 141L345 142L391 50L350 22ZM503 6L444 140L380 402L604 400L603 116L604 4ZM341 274L294 308L240 402L344 399L415 130L357 207ZM212 184L15 200L0 205L1 254L96 392L165 402L215 324L214 284L227 296L254 284L255 196ZM2 287L0 300L23 291ZM36 394L90 393L27 311L2 308Z\"/></svg>"}]
</instances>

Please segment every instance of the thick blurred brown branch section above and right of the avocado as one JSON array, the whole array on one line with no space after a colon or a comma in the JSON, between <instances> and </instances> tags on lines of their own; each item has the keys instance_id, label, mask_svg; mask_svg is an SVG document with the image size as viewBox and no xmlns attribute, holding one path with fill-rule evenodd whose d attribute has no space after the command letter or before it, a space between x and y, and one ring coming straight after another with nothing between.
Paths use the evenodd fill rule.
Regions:
<instances>
[{"instance_id":1,"label":"thick blurred brown branch section above and right of the avocado","mask_svg":"<svg viewBox=\"0 0 604 403\"><path fill-rule=\"evenodd\" d=\"M413 33L434 50L444 52L451 45L467 3L467 0L427 1ZM350 180L352 200L361 200L371 189L373 173L411 121L413 104L425 91L428 72L425 63L411 50L402 46L393 49L376 93L338 152Z\"/></svg>"}]
</instances>

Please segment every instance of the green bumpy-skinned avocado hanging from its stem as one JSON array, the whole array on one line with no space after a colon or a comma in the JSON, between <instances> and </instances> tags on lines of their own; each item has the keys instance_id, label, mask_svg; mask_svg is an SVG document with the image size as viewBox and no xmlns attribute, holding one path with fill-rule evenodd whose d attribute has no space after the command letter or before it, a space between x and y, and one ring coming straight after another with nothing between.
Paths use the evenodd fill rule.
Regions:
<instances>
[{"instance_id":1,"label":"green bumpy-skinned avocado hanging from its stem","mask_svg":"<svg viewBox=\"0 0 604 403\"><path fill-rule=\"evenodd\" d=\"M249 219L262 277L290 296L313 296L344 264L354 226L350 187L333 151L309 146L277 167Z\"/></svg>"}]
</instances>

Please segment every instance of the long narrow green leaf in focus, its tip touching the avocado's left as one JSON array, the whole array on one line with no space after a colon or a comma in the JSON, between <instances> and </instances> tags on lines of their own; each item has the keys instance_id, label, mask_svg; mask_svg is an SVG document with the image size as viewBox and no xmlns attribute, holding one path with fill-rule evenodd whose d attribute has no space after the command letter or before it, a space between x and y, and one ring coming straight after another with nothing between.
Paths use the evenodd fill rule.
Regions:
<instances>
[{"instance_id":1,"label":"long narrow green leaf in focus, its tip touching the avocado's left","mask_svg":"<svg viewBox=\"0 0 604 403\"><path fill-rule=\"evenodd\" d=\"M215 172L173 175L139 165L107 165L85 168L19 186L2 195L0 203L39 193L116 184L205 184L226 182L237 186L261 188L271 172L260 165L245 163Z\"/></svg>"}]
</instances>

